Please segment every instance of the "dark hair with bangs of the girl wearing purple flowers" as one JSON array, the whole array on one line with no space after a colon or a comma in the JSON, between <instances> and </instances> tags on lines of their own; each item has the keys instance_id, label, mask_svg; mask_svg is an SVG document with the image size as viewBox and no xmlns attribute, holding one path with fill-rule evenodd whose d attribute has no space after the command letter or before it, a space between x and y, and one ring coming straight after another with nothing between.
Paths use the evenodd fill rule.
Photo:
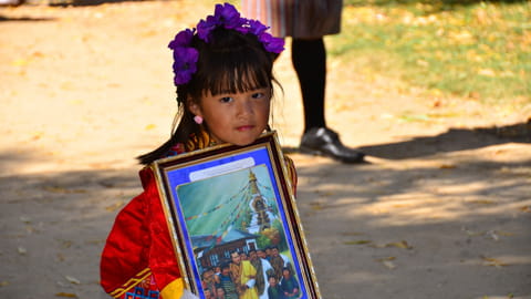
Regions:
<instances>
[{"instance_id":1,"label":"dark hair with bangs of the girl wearing purple flowers","mask_svg":"<svg viewBox=\"0 0 531 299\"><path fill-rule=\"evenodd\" d=\"M188 83L177 85L177 128L158 148L138 156L142 164L149 164L166 156L177 143L188 146L190 136L204 138L201 131L208 133L207 123L204 123L201 128L201 125L194 122L195 115L188 109L189 101L199 104L201 96L208 92L217 95L263 87L272 90L272 83L279 84L272 72L277 54L266 51L254 34L217 28L211 31L208 43L196 34L191 45L199 51L197 72Z\"/></svg>"}]
</instances>

